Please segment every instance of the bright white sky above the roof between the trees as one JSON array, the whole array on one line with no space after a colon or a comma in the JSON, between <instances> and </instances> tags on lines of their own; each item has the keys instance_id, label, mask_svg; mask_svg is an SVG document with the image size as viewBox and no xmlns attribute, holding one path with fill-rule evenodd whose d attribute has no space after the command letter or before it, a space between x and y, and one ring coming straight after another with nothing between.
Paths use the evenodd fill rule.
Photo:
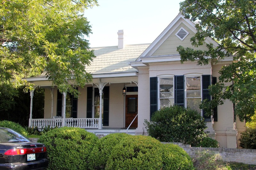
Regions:
<instances>
[{"instance_id":1,"label":"bright white sky above the roof between the trees","mask_svg":"<svg viewBox=\"0 0 256 170\"><path fill-rule=\"evenodd\" d=\"M92 26L90 47L118 45L118 30L124 43L152 43L178 15L182 0L98 0L84 12Z\"/></svg>"}]
</instances>

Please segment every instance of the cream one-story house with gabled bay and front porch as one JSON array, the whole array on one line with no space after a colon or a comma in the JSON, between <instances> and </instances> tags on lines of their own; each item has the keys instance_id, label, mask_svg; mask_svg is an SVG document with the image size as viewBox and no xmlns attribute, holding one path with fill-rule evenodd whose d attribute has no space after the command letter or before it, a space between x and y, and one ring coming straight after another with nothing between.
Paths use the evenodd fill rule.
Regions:
<instances>
[{"instance_id":1,"label":"cream one-story house with gabled bay and front porch","mask_svg":"<svg viewBox=\"0 0 256 170\"><path fill-rule=\"evenodd\" d=\"M202 66L197 61L181 64L177 46L192 47L190 38L195 33L195 23L181 14L151 44L125 46L123 30L119 30L118 46L93 48L97 57L86 68L93 80L77 87L78 98L58 92L44 75L27 78L36 87L45 88L42 119L32 119L30 92L29 125L80 127L98 134L126 132L130 127L128 133L147 135L144 120L164 106L177 104L198 110L205 118L209 136L221 147L236 148L245 123L235 119L233 104L226 100L210 117L199 109L200 102L210 98L208 86L218 81L218 71L233 58ZM218 45L211 38L205 43Z\"/></svg>"}]
</instances>

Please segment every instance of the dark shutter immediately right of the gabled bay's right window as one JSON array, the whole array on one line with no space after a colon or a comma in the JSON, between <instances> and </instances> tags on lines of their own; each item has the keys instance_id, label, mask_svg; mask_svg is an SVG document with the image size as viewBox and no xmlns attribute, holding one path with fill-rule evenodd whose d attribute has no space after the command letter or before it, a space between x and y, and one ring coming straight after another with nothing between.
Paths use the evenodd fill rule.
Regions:
<instances>
[{"instance_id":1,"label":"dark shutter immediately right of the gabled bay's right window","mask_svg":"<svg viewBox=\"0 0 256 170\"><path fill-rule=\"evenodd\" d=\"M211 100L209 94L209 85L211 85L211 75L202 75L202 90L203 90L203 100ZM211 122L211 116L205 116L205 111L203 110L203 117L205 122Z\"/></svg>"}]
</instances>

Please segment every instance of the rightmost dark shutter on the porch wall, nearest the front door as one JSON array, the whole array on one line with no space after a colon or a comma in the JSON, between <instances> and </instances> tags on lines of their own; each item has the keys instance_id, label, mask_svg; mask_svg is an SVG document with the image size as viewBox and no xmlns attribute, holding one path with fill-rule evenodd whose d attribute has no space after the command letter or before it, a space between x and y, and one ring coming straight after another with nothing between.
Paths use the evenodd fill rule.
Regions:
<instances>
[{"instance_id":1,"label":"rightmost dark shutter on the porch wall, nearest the front door","mask_svg":"<svg viewBox=\"0 0 256 170\"><path fill-rule=\"evenodd\" d=\"M109 120L109 86L103 88L103 126L108 126Z\"/></svg>"}]
</instances>

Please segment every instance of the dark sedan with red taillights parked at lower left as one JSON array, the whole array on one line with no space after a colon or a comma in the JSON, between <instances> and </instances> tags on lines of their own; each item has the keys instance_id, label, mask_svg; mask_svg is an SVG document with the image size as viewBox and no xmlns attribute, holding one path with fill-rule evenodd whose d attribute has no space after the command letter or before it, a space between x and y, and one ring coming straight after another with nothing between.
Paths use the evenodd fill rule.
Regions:
<instances>
[{"instance_id":1,"label":"dark sedan with red taillights parked at lower left","mask_svg":"<svg viewBox=\"0 0 256 170\"><path fill-rule=\"evenodd\" d=\"M44 144L32 142L18 132L0 127L0 169L45 169L48 166Z\"/></svg>"}]
</instances>

